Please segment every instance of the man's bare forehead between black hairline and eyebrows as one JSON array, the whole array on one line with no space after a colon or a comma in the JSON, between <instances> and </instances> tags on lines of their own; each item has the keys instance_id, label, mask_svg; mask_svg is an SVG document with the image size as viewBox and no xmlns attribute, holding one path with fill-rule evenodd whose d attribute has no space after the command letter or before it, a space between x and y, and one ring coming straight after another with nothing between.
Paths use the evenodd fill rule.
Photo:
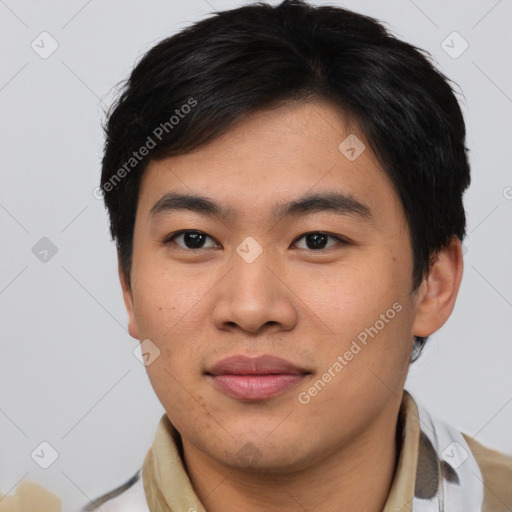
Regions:
<instances>
[{"instance_id":1,"label":"man's bare forehead between black hairline and eyebrows","mask_svg":"<svg viewBox=\"0 0 512 512\"><path fill-rule=\"evenodd\" d=\"M349 195L377 215L400 208L357 125L322 101L254 112L209 144L150 162L141 181L141 214L149 216L168 191L206 195L250 215L327 191Z\"/></svg>"}]
</instances>

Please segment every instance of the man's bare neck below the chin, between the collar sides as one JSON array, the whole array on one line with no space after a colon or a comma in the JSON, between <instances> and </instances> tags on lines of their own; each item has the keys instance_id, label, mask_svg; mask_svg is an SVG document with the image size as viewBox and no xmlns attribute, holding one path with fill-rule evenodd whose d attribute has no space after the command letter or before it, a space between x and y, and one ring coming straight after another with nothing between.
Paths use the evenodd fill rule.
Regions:
<instances>
[{"instance_id":1,"label":"man's bare neck below the chin, between the collar sides","mask_svg":"<svg viewBox=\"0 0 512 512\"><path fill-rule=\"evenodd\" d=\"M398 461L400 401L347 446L300 471L248 472L219 464L183 440L192 485L207 512L381 512Z\"/></svg>"}]
</instances>

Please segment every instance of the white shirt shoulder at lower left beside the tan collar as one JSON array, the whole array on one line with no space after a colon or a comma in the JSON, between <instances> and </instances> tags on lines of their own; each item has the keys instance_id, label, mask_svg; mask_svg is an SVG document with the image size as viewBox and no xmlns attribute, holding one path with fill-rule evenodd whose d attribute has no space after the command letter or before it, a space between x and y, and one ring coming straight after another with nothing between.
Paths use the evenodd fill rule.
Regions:
<instances>
[{"instance_id":1,"label":"white shirt shoulder at lower left beside the tan collar","mask_svg":"<svg viewBox=\"0 0 512 512\"><path fill-rule=\"evenodd\" d=\"M127 482L95 498L80 512L150 512L144 486L142 470L138 470Z\"/></svg>"}]
</instances>

